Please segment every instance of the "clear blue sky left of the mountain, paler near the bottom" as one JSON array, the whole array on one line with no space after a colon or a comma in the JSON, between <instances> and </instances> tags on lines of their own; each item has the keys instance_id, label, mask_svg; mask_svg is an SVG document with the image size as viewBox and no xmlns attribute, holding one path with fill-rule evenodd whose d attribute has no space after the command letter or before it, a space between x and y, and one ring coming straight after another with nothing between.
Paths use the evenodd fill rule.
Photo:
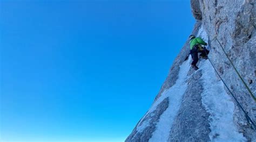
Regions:
<instances>
[{"instance_id":1,"label":"clear blue sky left of the mountain, paler near the bottom","mask_svg":"<svg viewBox=\"0 0 256 142\"><path fill-rule=\"evenodd\" d=\"M0 141L122 141L194 25L190 1L1 1Z\"/></svg>"}]
</instances>

